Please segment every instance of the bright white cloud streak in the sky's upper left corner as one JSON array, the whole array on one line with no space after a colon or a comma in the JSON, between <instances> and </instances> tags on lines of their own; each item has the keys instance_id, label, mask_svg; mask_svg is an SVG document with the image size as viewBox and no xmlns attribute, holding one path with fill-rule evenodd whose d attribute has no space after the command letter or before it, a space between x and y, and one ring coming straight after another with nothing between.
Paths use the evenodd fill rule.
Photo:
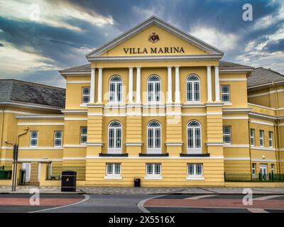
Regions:
<instances>
[{"instance_id":1,"label":"bright white cloud streak in the sky's upper left corner","mask_svg":"<svg viewBox=\"0 0 284 227\"><path fill-rule=\"evenodd\" d=\"M102 16L96 11L87 11L80 5L72 4L69 1L9 0L0 1L0 4L0 15L6 18L45 23L49 26L74 31L81 31L81 28L73 25L72 20L84 21L85 23L91 23L93 26L114 24L111 16Z\"/></svg>"}]
</instances>

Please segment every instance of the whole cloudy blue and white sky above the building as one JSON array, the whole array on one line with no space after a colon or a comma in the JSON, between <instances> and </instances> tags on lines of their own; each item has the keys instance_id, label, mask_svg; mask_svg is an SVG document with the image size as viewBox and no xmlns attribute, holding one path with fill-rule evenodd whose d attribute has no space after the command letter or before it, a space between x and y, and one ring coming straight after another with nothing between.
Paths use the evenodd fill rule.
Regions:
<instances>
[{"instance_id":1,"label":"whole cloudy blue and white sky above the building","mask_svg":"<svg viewBox=\"0 0 284 227\"><path fill-rule=\"evenodd\" d=\"M0 79L65 87L58 70L153 15L223 50L222 60L284 74L283 0L0 0Z\"/></svg>"}]
</instances>

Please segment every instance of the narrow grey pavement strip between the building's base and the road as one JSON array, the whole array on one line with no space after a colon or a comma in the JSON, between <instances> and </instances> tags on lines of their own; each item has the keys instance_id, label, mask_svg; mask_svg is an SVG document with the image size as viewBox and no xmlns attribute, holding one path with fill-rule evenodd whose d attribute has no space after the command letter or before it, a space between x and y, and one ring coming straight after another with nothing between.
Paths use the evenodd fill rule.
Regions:
<instances>
[{"instance_id":1,"label":"narrow grey pavement strip between the building's base and the road","mask_svg":"<svg viewBox=\"0 0 284 227\"><path fill-rule=\"evenodd\" d=\"M40 194L70 194L60 187L20 186L16 192L11 187L1 186L0 194L29 194L38 189ZM217 187L77 187L71 194L243 194L244 188ZM251 188L253 194L284 194L284 188Z\"/></svg>"}]
</instances>

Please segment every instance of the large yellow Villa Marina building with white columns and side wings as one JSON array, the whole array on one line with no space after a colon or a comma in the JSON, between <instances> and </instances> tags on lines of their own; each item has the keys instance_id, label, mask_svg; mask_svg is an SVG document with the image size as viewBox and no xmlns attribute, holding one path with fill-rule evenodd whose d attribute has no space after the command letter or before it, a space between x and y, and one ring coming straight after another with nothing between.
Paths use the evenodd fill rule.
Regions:
<instances>
[{"instance_id":1,"label":"large yellow Villa Marina building with white columns and side wings","mask_svg":"<svg viewBox=\"0 0 284 227\"><path fill-rule=\"evenodd\" d=\"M225 177L283 173L283 75L223 55L148 18L89 52L90 64L60 71L66 94L33 84L50 92L0 96L0 165L11 167L8 143L28 127L18 140L28 182L43 163L48 179L72 168L96 186L222 187Z\"/></svg>"}]
</instances>

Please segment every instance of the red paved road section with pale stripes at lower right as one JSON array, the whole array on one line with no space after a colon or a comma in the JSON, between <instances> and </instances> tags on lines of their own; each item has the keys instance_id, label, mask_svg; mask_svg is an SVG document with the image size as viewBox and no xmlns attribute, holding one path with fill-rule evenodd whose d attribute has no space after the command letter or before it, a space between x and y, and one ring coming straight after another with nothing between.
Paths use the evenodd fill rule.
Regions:
<instances>
[{"instance_id":1,"label":"red paved road section with pale stripes at lower right","mask_svg":"<svg viewBox=\"0 0 284 227\"><path fill-rule=\"evenodd\" d=\"M242 194L172 194L148 199L143 206L152 213L284 213L284 195L255 195L243 204Z\"/></svg>"}]
</instances>

